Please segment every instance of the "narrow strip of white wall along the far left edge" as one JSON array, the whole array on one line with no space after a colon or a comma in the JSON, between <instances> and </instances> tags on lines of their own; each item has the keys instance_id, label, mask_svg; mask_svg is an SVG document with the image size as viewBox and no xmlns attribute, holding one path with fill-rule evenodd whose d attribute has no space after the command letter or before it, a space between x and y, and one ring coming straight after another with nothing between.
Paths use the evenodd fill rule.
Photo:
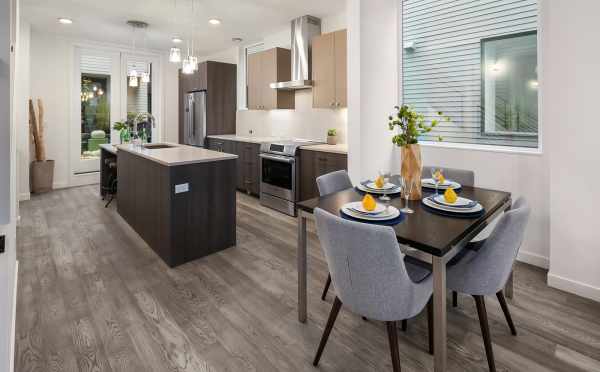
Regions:
<instances>
[{"instance_id":1,"label":"narrow strip of white wall along the far left edge","mask_svg":"<svg viewBox=\"0 0 600 372\"><path fill-rule=\"evenodd\" d=\"M6 237L0 254L0 371L12 371L14 299L16 284L16 131L13 111L17 4L0 1L0 235Z\"/></svg>"}]
</instances>

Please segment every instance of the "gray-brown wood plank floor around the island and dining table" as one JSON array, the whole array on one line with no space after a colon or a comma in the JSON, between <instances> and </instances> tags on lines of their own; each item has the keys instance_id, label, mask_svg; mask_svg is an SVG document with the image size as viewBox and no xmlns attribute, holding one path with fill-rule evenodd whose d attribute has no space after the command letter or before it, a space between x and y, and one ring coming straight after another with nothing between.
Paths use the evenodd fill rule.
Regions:
<instances>
[{"instance_id":1,"label":"gray-brown wood plank floor around the island and dining table","mask_svg":"<svg viewBox=\"0 0 600 372\"><path fill-rule=\"evenodd\" d=\"M296 221L238 195L238 245L169 269L96 186L21 204L16 371L391 371L383 324L342 309L318 369L331 303L309 232L309 320L296 315ZM499 371L600 371L600 304L518 264L509 302L488 299ZM486 371L473 301L448 311L449 368ZM426 317L400 332L403 371L431 371Z\"/></svg>"}]
</instances>

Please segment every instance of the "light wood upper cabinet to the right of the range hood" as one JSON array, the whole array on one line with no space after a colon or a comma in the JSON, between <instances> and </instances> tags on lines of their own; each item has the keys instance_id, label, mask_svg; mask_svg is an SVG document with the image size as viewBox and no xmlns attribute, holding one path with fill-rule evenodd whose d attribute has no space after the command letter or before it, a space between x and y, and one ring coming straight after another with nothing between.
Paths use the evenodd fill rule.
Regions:
<instances>
[{"instance_id":1,"label":"light wood upper cabinet to the right of the range hood","mask_svg":"<svg viewBox=\"0 0 600 372\"><path fill-rule=\"evenodd\" d=\"M341 108L348 105L347 48L346 30L330 32L313 39L314 108Z\"/></svg>"}]
</instances>

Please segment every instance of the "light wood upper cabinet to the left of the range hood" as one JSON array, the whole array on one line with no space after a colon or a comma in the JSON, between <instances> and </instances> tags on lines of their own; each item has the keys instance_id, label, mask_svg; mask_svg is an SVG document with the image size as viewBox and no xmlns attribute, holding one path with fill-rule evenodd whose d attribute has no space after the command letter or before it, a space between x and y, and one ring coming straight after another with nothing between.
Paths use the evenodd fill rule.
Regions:
<instances>
[{"instance_id":1,"label":"light wood upper cabinet to the left of the range hood","mask_svg":"<svg viewBox=\"0 0 600 372\"><path fill-rule=\"evenodd\" d=\"M277 90L271 83L291 79L292 56L289 49L273 48L248 55L248 109L293 109L293 91Z\"/></svg>"}]
</instances>

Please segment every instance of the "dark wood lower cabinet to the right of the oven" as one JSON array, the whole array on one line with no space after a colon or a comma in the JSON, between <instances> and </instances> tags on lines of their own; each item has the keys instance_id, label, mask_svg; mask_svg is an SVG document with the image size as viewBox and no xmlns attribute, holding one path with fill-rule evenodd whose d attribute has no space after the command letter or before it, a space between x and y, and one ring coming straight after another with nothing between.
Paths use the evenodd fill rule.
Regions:
<instances>
[{"instance_id":1,"label":"dark wood lower cabinet to the right of the oven","mask_svg":"<svg viewBox=\"0 0 600 372\"><path fill-rule=\"evenodd\" d=\"M319 196L317 177L348 169L348 155L300 149L300 200Z\"/></svg>"}]
</instances>

